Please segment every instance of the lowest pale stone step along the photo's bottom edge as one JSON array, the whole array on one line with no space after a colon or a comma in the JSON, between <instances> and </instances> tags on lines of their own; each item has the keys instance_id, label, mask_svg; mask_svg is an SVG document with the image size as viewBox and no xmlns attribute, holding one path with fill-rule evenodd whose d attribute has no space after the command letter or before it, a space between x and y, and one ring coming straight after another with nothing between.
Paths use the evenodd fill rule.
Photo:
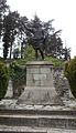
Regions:
<instances>
[{"instance_id":1,"label":"lowest pale stone step along the photo's bottom edge","mask_svg":"<svg viewBox=\"0 0 76 133\"><path fill-rule=\"evenodd\" d=\"M76 133L76 130L0 125L0 133Z\"/></svg>"}]
</instances>

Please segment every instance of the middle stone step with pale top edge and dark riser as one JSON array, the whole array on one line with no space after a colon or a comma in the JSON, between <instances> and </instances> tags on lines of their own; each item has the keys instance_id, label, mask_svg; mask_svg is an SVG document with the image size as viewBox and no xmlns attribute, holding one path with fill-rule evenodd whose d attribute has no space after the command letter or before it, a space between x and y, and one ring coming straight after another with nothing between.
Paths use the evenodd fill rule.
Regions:
<instances>
[{"instance_id":1,"label":"middle stone step with pale top edge and dark riser","mask_svg":"<svg viewBox=\"0 0 76 133\"><path fill-rule=\"evenodd\" d=\"M0 124L10 126L62 127L76 130L76 116L1 114Z\"/></svg>"}]
</instances>

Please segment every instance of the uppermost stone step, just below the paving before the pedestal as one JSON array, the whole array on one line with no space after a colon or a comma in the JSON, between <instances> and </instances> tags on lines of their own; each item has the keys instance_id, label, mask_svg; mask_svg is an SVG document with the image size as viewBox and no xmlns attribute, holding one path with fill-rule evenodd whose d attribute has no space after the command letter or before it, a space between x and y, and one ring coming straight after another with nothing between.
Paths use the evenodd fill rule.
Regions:
<instances>
[{"instance_id":1,"label":"uppermost stone step, just below the paving before the pedestal","mask_svg":"<svg viewBox=\"0 0 76 133\"><path fill-rule=\"evenodd\" d=\"M29 115L73 115L76 110L50 110L50 109L0 109L0 114L29 114Z\"/></svg>"}]
</instances>

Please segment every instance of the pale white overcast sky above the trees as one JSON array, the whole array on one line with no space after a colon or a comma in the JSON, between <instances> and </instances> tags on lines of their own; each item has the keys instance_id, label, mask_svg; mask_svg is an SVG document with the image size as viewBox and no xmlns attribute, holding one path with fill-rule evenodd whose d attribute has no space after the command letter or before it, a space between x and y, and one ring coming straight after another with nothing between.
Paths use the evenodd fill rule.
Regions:
<instances>
[{"instance_id":1,"label":"pale white overcast sky above the trees","mask_svg":"<svg viewBox=\"0 0 76 133\"><path fill-rule=\"evenodd\" d=\"M62 29L62 40L76 55L76 0L7 0L11 10L32 19L36 13L42 21L55 19L53 25Z\"/></svg>"}]
</instances>

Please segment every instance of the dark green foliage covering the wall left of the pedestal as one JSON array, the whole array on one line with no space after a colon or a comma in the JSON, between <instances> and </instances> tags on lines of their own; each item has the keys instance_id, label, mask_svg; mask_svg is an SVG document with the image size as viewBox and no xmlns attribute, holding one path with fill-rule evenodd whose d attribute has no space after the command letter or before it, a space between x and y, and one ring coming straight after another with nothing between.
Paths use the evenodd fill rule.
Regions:
<instances>
[{"instance_id":1,"label":"dark green foliage covering the wall left of the pedestal","mask_svg":"<svg viewBox=\"0 0 76 133\"><path fill-rule=\"evenodd\" d=\"M21 66L18 64L17 61L11 62L10 75L11 75L12 83L13 83L13 94L15 94L15 91L25 84L25 81L26 81L25 65ZM21 90L19 90L19 91L21 91Z\"/></svg>"}]
</instances>

